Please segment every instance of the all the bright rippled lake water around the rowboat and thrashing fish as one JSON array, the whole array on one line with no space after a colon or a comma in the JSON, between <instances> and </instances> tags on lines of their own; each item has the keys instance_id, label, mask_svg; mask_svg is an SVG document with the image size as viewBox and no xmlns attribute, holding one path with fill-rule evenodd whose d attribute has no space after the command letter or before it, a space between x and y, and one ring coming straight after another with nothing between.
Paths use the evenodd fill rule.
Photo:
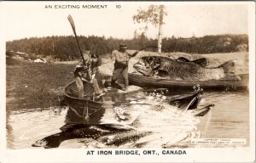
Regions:
<instances>
[{"instance_id":1,"label":"all the bright rippled lake water around the rowboat and thrashing fish","mask_svg":"<svg viewBox=\"0 0 256 163\"><path fill-rule=\"evenodd\" d=\"M181 113L167 103L148 93L138 92L105 98L100 122L131 125L140 131L153 134L137 140L142 148L199 148L230 147L229 145L191 143L191 138L245 138L249 145L249 94L236 92L205 92L199 108L215 104L203 117L191 112ZM116 110L128 113L128 121L120 121ZM32 149L32 143L51 134L61 132L67 108L48 108L7 112L7 148ZM84 141L80 141L80 140ZM84 143L87 142L87 143ZM60 148L109 148L96 147L95 140L86 138L67 140ZM119 147L131 148L131 143Z\"/></svg>"}]
</instances>

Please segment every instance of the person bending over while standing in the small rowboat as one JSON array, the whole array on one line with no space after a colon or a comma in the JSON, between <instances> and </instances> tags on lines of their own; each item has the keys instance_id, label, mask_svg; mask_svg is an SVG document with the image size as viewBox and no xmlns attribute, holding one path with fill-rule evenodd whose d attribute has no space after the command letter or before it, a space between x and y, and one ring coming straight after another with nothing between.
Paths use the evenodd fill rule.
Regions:
<instances>
[{"instance_id":1,"label":"person bending over while standing in the small rowboat","mask_svg":"<svg viewBox=\"0 0 256 163\"><path fill-rule=\"evenodd\" d=\"M92 83L96 97L100 96L102 93L95 77L98 59L91 58L90 55L91 55L90 51L83 51L85 65L83 60L80 60L74 70L74 77L75 77L75 82L79 91L78 93L79 98L84 98L83 81L88 81Z\"/></svg>"}]
</instances>

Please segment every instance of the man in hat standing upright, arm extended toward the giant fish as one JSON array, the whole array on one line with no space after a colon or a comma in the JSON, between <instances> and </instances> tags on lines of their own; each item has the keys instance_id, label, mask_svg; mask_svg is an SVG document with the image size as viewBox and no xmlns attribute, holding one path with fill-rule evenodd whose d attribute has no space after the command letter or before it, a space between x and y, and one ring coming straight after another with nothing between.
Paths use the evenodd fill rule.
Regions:
<instances>
[{"instance_id":1,"label":"man in hat standing upright, arm extended toward the giant fish","mask_svg":"<svg viewBox=\"0 0 256 163\"><path fill-rule=\"evenodd\" d=\"M129 86L128 80L128 61L129 53L126 51L127 46L125 43L119 44L119 50L114 50L112 56L115 57L114 70L111 85L112 87L121 88L123 91L127 91ZM131 57L134 57L138 52L132 53ZM125 83L124 83L125 82Z\"/></svg>"}]
</instances>

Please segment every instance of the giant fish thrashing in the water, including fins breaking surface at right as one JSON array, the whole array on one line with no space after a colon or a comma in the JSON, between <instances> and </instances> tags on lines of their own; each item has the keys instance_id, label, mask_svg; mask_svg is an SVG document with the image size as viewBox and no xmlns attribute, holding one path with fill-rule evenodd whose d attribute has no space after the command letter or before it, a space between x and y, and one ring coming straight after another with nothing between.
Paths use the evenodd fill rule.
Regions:
<instances>
[{"instance_id":1,"label":"giant fish thrashing in the water, including fins breaking surface at right","mask_svg":"<svg viewBox=\"0 0 256 163\"><path fill-rule=\"evenodd\" d=\"M202 90L197 87L193 93L186 93L177 97L173 97L170 104L177 106L180 110L192 110L195 116L206 115L213 105L209 105L200 110L197 105L201 101ZM125 121L125 114L122 110L115 111L117 118ZM124 116L124 118L123 118ZM61 127L61 132L55 133L33 143L33 147L58 148L61 143L68 139L73 138L86 138L96 140L98 143L104 143L106 147L109 145L120 146L129 143L135 143L138 139L153 134L151 131L138 131L133 126L125 125L122 123L106 123L106 124L76 124L67 123ZM139 148L139 147L138 147Z\"/></svg>"}]
</instances>

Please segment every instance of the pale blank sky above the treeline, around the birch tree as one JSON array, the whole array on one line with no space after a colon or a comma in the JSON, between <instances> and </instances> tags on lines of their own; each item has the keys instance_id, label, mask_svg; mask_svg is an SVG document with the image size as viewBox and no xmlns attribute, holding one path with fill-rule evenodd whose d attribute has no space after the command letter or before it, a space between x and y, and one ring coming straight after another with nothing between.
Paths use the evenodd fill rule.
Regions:
<instances>
[{"instance_id":1,"label":"pale blank sky above the treeline, around the birch tree","mask_svg":"<svg viewBox=\"0 0 256 163\"><path fill-rule=\"evenodd\" d=\"M25 37L73 35L67 15L71 14L78 35L132 38L145 24L136 24L132 16L150 4L135 2L1 2L1 36L6 41ZM82 5L108 5L88 9ZM45 8L52 5L53 8ZM54 8L55 5L79 5L80 8ZM120 5L121 8L116 8ZM245 3L172 3L165 2L163 37L203 37L218 34L248 34L248 5ZM148 25L147 37L157 38L158 27Z\"/></svg>"}]
</instances>

